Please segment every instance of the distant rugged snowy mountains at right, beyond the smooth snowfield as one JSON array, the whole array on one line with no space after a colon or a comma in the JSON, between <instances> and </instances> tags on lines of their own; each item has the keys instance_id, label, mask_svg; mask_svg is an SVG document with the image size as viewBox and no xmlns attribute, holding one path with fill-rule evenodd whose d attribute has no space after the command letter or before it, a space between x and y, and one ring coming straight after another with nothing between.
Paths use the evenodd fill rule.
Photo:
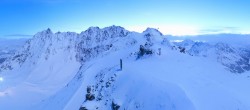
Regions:
<instances>
[{"instance_id":1,"label":"distant rugged snowy mountains at right, beyond the smooth snowfield","mask_svg":"<svg viewBox=\"0 0 250 110\"><path fill-rule=\"evenodd\" d=\"M243 73L250 70L250 50L247 48L248 46L233 47L222 42L211 44L209 42L195 42L190 39L175 42L175 44L185 48L185 51L192 56L210 57L217 60L233 73Z\"/></svg>"}]
</instances>

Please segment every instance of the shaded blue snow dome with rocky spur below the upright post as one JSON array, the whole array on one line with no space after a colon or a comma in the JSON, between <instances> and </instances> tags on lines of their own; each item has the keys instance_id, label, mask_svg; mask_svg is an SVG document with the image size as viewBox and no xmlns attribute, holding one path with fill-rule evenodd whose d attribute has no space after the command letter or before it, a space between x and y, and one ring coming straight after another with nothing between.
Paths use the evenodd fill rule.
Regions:
<instances>
[{"instance_id":1,"label":"shaded blue snow dome with rocky spur below the upright post","mask_svg":"<svg viewBox=\"0 0 250 110\"><path fill-rule=\"evenodd\" d=\"M192 102L178 85L166 80L157 80L151 76L157 68L150 66L149 69L145 69L148 65L145 65L144 61L138 60L137 62L134 59L126 58L124 54L126 55L126 52L117 52L94 61L94 65L84 72L83 79L86 80L76 92L78 94L75 94L78 97L73 97L65 109L70 110L74 108L76 102L82 102L85 99L84 94L86 94L87 86L92 85L96 88L94 94L102 95L99 101L84 102L83 106L88 109L96 109L97 107L111 109L112 101L118 103L121 109L129 110L194 109ZM119 69L119 58L124 58L123 70ZM101 80L103 80L102 83L100 83ZM110 85L107 86L107 83ZM102 88L102 86L104 87Z\"/></svg>"}]
</instances>

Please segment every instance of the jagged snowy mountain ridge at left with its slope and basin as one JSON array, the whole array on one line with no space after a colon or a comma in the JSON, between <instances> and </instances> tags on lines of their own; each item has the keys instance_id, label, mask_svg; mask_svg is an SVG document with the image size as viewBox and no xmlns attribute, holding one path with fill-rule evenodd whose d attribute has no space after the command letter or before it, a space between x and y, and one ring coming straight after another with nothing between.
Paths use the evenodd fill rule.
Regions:
<instances>
[{"instance_id":1,"label":"jagged snowy mountain ridge at left with its slope and basin","mask_svg":"<svg viewBox=\"0 0 250 110\"><path fill-rule=\"evenodd\" d=\"M37 33L1 64L4 82L1 82L3 105L0 107L26 109L54 94L67 85L84 62L115 51L121 47L119 45L129 47L134 44L132 38L123 39L127 34L125 29L116 26L104 29L91 27L81 34L53 33L50 29ZM120 42L115 43L117 40ZM28 102L19 102L18 106L17 102L25 99L26 94L33 94L37 101L26 99ZM17 103L17 106L10 102Z\"/></svg>"}]
</instances>

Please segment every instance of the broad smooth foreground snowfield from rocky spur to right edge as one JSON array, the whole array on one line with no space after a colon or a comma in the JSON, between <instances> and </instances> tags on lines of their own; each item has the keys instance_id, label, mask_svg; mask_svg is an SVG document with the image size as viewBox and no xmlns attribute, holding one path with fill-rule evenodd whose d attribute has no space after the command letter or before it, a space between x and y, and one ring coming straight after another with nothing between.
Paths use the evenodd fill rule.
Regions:
<instances>
[{"instance_id":1,"label":"broad smooth foreground snowfield from rocky spur to right edge","mask_svg":"<svg viewBox=\"0 0 250 110\"><path fill-rule=\"evenodd\" d=\"M165 49L161 56L125 58L120 71L119 58L124 58L123 52L99 59L85 71L84 84L65 109L78 109L75 105L81 101L88 109L111 109L114 101L121 109L128 110L249 110L250 79L232 74L209 59ZM96 78L100 73L107 75L103 76L103 83ZM104 90L98 87L93 92L103 95L100 101L84 101L87 86L106 86L112 76L115 80L111 87Z\"/></svg>"}]
</instances>

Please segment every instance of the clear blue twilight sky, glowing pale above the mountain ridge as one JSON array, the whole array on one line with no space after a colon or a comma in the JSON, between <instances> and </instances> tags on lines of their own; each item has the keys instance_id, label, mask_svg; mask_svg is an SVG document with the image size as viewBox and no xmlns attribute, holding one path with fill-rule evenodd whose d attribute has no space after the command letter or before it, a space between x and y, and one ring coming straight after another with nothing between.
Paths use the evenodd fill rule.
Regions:
<instances>
[{"instance_id":1,"label":"clear blue twilight sky, glowing pale above the mountain ridge","mask_svg":"<svg viewBox=\"0 0 250 110\"><path fill-rule=\"evenodd\" d=\"M250 0L0 0L0 37L119 25L164 34L250 33Z\"/></svg>"}]
</instances>

